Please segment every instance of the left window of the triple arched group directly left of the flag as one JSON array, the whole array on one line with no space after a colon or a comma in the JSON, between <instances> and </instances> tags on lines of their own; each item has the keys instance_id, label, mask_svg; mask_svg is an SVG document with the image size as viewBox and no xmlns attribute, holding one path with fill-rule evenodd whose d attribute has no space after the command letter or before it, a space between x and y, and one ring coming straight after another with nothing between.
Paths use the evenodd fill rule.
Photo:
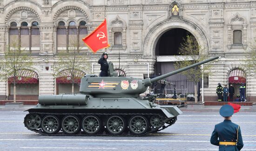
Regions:
<instances>
[{"instance_id":1,"label":"left window of the triple arched group directly left of the flag","mask_svg":"<svg viewBox=\"0 0 256 151\"><path fill-rule=\"evenodd\" d=\"M57 50L61 52L61 50L67 49L67 30L65 27L65 23L60 21L57 28Z\"/></svg>"}]
</instances>

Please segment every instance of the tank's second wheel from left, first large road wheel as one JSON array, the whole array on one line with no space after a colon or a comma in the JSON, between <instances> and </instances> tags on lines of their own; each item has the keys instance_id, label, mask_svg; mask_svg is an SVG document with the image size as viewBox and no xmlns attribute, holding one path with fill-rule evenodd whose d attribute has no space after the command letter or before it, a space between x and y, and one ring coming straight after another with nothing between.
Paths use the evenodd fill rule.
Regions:
<instances>
[{"instance_id":1,"label":"tank's second wheel from left, first large road wheel","mask_svg":"<svg viewBox=\"0 0 256 151\"><path fill-rule=\"evenodd\" d=\"M56 134L60 131L60 120L54 115L47 115L43 118L41 128L46 134Z\"/></svg>"}]
</instances>

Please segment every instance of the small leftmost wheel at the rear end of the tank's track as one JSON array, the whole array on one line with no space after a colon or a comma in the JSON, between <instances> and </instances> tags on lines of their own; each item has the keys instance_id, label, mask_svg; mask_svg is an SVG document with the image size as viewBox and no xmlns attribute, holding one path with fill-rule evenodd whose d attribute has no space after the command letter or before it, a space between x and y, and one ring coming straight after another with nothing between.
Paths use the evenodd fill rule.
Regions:
<instances>
[{"instance_id":1,"label":"small leftmost wheel at the rear end of the tank's track","mask_svg":"<svg viewBox=\"0 0 256 151\"><path fill-rule=\"evenodd\" d=\"M37 129L41 126L41 118L38 114L29 113L24 119L24 124L28 129Z\"/></svg>"}]
</instances>

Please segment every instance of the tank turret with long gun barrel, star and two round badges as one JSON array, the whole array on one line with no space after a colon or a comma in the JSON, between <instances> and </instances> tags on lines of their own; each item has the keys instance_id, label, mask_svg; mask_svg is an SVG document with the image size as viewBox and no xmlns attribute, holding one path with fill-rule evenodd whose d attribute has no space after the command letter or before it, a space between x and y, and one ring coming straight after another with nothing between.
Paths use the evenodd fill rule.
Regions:
<instances>
[{"instance_id":1,"label":"tank turret with long gun barrel, star and two round badges","mask_svg":"<svg viewBox=\"0 0 256 151\"><path fill-rule=\"evenodd\" d=\"M138 80L130 77L96 77L93 75L86 75L81 79L80 93L91 94L94 97L138 97L141 93L146 92L147 87L151 86L153 82L162 80L168 76L175 75L190 68L194 68L203 63L208 63L217 58L218 57L212 57L205 61L192 64L188 67L184 67L152 79L147 78L144 80ZM113 69L111 71L113 71Z\"/></svg>"}]
</instances>

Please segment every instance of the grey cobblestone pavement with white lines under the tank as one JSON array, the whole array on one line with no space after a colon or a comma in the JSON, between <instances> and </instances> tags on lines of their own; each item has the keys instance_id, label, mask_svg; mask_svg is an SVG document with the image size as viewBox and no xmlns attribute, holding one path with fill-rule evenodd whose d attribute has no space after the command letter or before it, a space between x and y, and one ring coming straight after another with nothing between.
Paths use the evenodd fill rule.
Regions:
<instances>
[{"instance_id":1,"label":"grey cobblestone pavement with white lines under the tank","mask_svg":"<svg viewBox=\"0 0 256 151\"><path fill-rule=\"evenodd\" d=\"M27 112L0 111L0 151L209 151L218 112L183 112L173 126L143 137L43 136L27 130ZM232 121L241 126L243 151L256 151L256 113L240 112Z\"/></svg>"}]
</instances>

